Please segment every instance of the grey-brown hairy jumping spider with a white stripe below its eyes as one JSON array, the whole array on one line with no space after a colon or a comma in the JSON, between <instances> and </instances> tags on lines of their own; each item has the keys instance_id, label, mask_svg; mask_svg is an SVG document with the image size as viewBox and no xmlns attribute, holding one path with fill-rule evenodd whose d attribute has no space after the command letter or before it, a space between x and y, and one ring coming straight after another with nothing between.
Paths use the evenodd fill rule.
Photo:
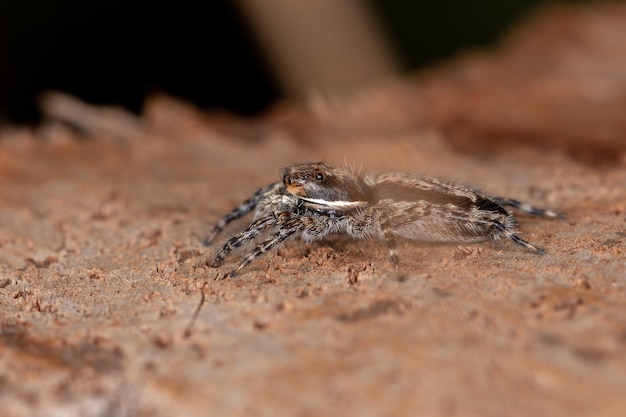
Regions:
<instances>
[{"instance_id":1,"label":"grey-brown hairy jumping spider with a white stripe below its eyes","mask_svg":"<svg viewBox=\"0 0 626 417\"><path fill-rule=\"evenodd\" d=\"M543 249L515 234L518 222L505 206L540 217L564 217L517 200L489 197L463 185L414 174L359 176L323 162L305 163L286 168L282 181L261 188L224 216L205 243L209 245L233 220L256 210L252 223L224 244L209 263L211 267L220 266L233 249L252 243L261 234L268 237L230 276L287 238L312 242L330 233L355 239L382 238L396 272L396 237L463 243L505 237L543 254Z\"/></svg>"}]
</instances>

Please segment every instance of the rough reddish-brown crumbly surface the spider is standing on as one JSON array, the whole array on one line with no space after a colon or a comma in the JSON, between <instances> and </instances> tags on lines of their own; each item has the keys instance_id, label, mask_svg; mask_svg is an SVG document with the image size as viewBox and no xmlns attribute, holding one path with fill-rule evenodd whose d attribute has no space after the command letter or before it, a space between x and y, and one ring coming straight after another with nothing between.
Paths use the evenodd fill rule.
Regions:
<instances>
[{"instance_id":1,"label":"rough reddish-brown crumbly surface the spider is standing on","mask_svg":"<svg viewBox=\"0 0 626 417\"><path fill-rule=\"evenodd\" d=\"M625 415L625 28L623 6L553 10L497 52L259 120L156 97L80 133L5 127L0 414ZM341 237L215 280L245 221L206 248L212 223L318 159L568 219L518 216L544 256L403 242L405 282L382 244Z\"/></svg>"}]
</instances>

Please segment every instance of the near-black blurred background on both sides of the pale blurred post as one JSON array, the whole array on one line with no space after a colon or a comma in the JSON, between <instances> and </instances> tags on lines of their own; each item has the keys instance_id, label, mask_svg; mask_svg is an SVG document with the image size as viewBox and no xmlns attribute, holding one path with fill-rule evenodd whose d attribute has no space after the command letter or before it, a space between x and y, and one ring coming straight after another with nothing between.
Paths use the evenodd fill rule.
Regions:
<instances>
[{"instance_id":1,"label":"near-black blurred background on both sides of the pale blurred post","mask_svg":"<svg viewBox=\"0 0 626 417\"><path fill-rule=\"evenodd\" d=\"M242 13L245 1L0 2L0 122L34 123L42 91L141 110L164 92L251 115L285 93ZM541 0L369 0L394 68L495 44ZM289 36L287 34L286 36Z\"/></svg>"}]
</instances>

